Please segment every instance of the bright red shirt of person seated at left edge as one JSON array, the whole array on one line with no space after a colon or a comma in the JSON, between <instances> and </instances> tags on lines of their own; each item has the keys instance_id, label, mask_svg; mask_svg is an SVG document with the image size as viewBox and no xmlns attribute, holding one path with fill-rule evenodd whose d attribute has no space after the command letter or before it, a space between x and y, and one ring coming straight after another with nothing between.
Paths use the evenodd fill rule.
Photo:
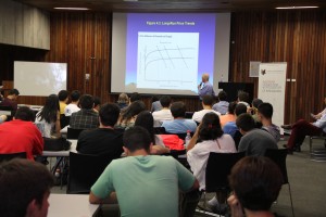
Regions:
<instances>
[{"instance_id":1,"label":"bright red shirt of person seated at left edge","mask_svg":"<svg viewBox=\"0 0 326 217\"><path fill-rule=\"evenodd\" d=\"M14 119L0 125L0 153L26 152L27 158L41 155L43 138L32 122Z\"/></svg>"}]
</instances>

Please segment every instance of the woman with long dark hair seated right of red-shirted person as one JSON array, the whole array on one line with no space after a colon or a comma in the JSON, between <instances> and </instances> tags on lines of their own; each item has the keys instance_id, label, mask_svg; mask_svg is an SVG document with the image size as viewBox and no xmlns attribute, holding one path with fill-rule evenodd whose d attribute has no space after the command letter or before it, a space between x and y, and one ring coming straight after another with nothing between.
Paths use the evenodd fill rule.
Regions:
<instances>
[{"instance_id":1,"label":"woman with long dark hair seated right of red-shirted person","mask_svg":"<svg viewBox=\"0 0 326 217\"><path fill-rule=\"evenodd\" d=\"M35 124L42 137L51 138L53 135L60 135L60 105L57 94L47 98L45 106L36 114Z\"/></svg>"}]
</instances>

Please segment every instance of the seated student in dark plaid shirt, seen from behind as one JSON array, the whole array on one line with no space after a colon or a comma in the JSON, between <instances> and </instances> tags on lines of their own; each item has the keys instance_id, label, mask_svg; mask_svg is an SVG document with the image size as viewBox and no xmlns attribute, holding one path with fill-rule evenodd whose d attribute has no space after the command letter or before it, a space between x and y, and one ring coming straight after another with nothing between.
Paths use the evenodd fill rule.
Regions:
<instances>
[{"instance_id":1,"label":"seated student in dark plaid shirt, seen from behind","mask_svg":"<svg viewBox=\"0 0 326 217\"><path fill-rule=\"evenodd\" d=\"M71 116L70 127L74 129L95 129L99 127L99 114L93 108L93 99L90 94L82 95L80 111Z\"/></svg>"}]
</instances>

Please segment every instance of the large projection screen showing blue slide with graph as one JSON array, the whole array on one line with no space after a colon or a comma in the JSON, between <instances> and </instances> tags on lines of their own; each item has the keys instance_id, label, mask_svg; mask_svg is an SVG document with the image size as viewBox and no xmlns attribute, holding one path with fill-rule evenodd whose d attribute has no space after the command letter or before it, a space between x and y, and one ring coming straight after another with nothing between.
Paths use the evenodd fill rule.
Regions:
<instances>
[{"instance_id":1,"label":"large projection screen showing blue slide with graph","mask_svg":"<svg viewBox=\"0 0 326 217\"><path fill-rule=\"evenodd\" d=\"M111 92L196 95L228 80L230 13L113 13Z\"/></svg>"}]
</instances>

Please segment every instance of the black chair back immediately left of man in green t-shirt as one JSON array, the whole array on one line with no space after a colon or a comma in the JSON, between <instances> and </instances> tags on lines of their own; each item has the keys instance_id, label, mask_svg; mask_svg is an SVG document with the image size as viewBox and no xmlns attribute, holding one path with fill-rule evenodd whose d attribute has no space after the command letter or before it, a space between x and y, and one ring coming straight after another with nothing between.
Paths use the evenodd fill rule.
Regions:
<instances>
[{"instance_id":1,"label":"black chair back immediately left of man in green t-shirt","mask_svg":"<svg viewBox=\"0 0 326 217\"><path fill-rule=\"evenodd\" d=\"M114 157L111 155L88 155L71 152L66 193L88 194Z\"/></svg>"}]
</instances>

